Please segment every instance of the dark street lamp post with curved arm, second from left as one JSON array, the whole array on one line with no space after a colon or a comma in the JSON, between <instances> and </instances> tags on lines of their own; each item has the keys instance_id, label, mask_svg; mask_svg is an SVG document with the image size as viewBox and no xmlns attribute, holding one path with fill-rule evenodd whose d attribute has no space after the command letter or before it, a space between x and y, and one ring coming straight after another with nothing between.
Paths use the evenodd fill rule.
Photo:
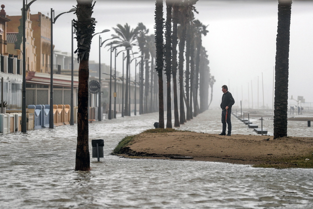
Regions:
<instances>
[{"instance_id":1,"label":"dark street lamp post with curved arm, second from left","mask_svg":"<svg viewBox=\"0 0 313 209\"><path fill-rule=\"evenodd\" d=\"M63 12L54 17L54 10L51 8L51 45L50 45L50 112L49 112L49 128L54 128L53 124L53 24L57 18L64 14L76 11L76 8L72 8L68 12Z\"/></svg>"}]
</instances>

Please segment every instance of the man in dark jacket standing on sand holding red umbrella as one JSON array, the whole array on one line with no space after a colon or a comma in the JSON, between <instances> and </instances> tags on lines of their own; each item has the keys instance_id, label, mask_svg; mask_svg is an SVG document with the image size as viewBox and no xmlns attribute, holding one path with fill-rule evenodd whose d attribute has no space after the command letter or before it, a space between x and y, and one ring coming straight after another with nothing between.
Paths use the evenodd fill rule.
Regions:
<instances>
[{"instance_id":1,"label":"man in dark jacket standing on sand holding red umbrella","mask_svg":"<svg viewBox=\"0 0 313 209\"><path fill-rule=\"evenodd\" d=\"M226 135L226 123L228 125L228 132L226 136L230 136L232 132L232 123L230 122L230 116L232 113L232 106L235 103L235 100L232 96L232 94L228 91L228 88L226 85L222 86L223 96L222 96L222 124L223 124L223 131L222 133L218 135ZM226 113L227 113L227 119L226 119Z\"/></svg>"}]
</instances>

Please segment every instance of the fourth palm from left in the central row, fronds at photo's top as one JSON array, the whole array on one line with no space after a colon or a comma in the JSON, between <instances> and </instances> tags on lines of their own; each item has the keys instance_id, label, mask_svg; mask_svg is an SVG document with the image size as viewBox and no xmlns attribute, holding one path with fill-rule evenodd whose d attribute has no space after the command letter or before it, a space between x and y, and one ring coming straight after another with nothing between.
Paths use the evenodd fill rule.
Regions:
<instances>
[{"instance_id":1,"label":"fourth palm from left in the central row, fronds at photo's top","mask_svg":"<svg viewBox=\"0 0 313 209\"><path fill-rule=\"evenodd\" d=\"M180 14L180 36L179 36L179 55L178 55L178 74L179 74L179 88L180 88L180 98L179 98L179 108L180 108L180 117L179 123L184 124L185 118L185 110L184 110L184 81L183 81L183 68L184 68L184 51L185 51L185 41L186 41L186 30L187 24L193 19L193 11L196 13L197 10L193 6L197 3L198 0L183 0L179 7L179 14Z\"/></svg>"}]
</instances>

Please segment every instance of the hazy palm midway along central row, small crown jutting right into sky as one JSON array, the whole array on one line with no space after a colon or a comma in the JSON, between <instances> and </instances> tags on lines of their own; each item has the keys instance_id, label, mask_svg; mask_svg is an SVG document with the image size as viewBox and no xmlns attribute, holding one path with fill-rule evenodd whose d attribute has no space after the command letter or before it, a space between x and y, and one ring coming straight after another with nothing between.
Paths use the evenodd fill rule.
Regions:
<instances>
[{"instance_id":1,"label":"hazy palm midway along central row, small crown jutting right into sky","mask_svg":"<svg viewBox=\"0 0 313 209\"><path fill-rule=\"evenodd\" d=\"M196 54L196 71L195 71L195 94L193 95L193 105L194 105L194 112L193 116L196 117L198 115L198 87L199 87L199 64L200 64L200 52L202 47L202 35L207 35L208 30L207 26L203 25L199 20L193 21L196 28L196 47L197 47L197 54Z\"/></svg>"}]
</instances>

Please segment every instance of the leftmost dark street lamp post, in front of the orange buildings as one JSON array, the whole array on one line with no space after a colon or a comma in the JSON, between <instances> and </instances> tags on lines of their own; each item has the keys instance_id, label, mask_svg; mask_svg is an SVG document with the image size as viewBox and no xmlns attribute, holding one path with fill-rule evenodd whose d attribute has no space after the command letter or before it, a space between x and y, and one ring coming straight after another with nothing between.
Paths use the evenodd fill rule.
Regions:
<instances>
[{"instance_id":1,"label":"leftmost dark street lamp post, in front of the orange buildings","mask_svg":"<svg viewBox=\"0 0 313 209\"><path fill-rule=\"evenodd\" d=\"M25 0L23 0L23 9L22 9L22 16L23 16L23 83L22 83L22 124L21 124L21 131L22 133L26 133L26 12L28 11L30 5L37 0L33 0L25 5Z\"/></svg>"}]
</instances>

